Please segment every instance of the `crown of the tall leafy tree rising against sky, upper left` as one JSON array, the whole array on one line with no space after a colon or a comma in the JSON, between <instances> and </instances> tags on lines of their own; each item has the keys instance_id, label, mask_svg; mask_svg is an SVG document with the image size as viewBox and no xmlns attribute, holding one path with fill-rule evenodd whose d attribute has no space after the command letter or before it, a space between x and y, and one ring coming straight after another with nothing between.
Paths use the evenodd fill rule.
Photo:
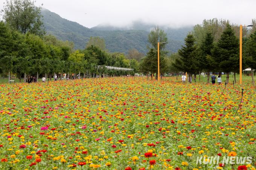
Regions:
<instances>
[{"instance_id":1,"label":"crown of the tall leafy tree rising against sky, upper left","mask_svg":"<svg viewBox=\"0 0 256 170\"><path fill-rule=\"evenodd\" d=\"M37 7L31 0L6 0L1 13L3 19L12 29L23 34L30 32L32 34L43 36L44 30L43 15L41 15L41 6Z\"/></svg>"}]
</instances>

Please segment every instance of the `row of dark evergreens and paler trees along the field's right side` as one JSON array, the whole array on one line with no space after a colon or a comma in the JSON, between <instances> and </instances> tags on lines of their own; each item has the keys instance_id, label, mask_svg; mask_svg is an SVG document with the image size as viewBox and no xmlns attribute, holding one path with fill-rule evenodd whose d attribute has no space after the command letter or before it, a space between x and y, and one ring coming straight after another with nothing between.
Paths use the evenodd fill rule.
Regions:
<instances>
[{"instance_id":1,"label":"row of dark evergreens and paler trees along the field's right side","mask_svg":"<svg viewBox=\"0 0 256 170\"><path fill-rule=\"evenodd\" d=\"M255 24L255 20L252 20ZM242 69L256 69L256 29L243 27L242 30ZM167 41L166 35L161 29L155 27L149 35L148 41L154 41L149 52L142 58L140 70L145 74L157 73L157 42ZM162 46L161 46L162 45ZM168 54L165 44L160 45L160 73L169 72L172 75L179 72L187 72L189 80L192 75L201 72L207 74L209 83L210 72L222 72L227 74L226 82L229 83L230 72L239 73L239 26L230 24L226 20L204 20L202 25L194 26L184 39L184 45L177 53ZM149 74L150 73L150 74ZM195 77L194 76L194 77ZM236 76L234 74L235 82Z\"/></svg>"}]
</instances>

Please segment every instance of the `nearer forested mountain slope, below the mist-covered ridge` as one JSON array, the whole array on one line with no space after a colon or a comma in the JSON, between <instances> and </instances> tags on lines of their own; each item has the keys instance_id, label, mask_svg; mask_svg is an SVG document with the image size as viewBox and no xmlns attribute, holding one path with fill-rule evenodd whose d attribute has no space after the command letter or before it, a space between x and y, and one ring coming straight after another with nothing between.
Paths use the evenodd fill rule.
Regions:
<instances>
[{"instance_id":1,"label":"nearer forested mountain slope, below the mist-covered ridge","mask_svg":"<svg viewBox=\"0 0 256 170\"><path fill-rule=\"evenodd\" d=\"M47 34L56 36L56 38L62 41L73 41L76 49L84 49L86 43L89 41L90 36L99 36L105 39L106 48L108 51L127 54L130 48L136 48L139 52L146 54L148 49L147 38L150 31L150 24L137 23L135 29L114 29L113 27L96 26L91 29L84 27L76 22L61 18L58 14L50 12L47 9L42 9L42 15L44 16L44 26L46 27ZM168 29L170 30L170 29ZM183 39L186 32L166 31L169 43L166 45L166 50L172 53L183 45Z\"/></svg>"}]
</instances>

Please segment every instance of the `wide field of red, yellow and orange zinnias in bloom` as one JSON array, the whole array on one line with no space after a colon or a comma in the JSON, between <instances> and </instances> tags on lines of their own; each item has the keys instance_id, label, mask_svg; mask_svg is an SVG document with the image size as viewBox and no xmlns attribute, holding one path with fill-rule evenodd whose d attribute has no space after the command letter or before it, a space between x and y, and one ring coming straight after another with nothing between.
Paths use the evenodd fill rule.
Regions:
<instances>
[{"instance_id":1,"label":"wide field of red, yellow and orange zinnias in bloom","mask_svg":"<svg viewBox=\"0 0 256 170\"><path fill-rule=\"evenodd\" d=\"M224 88L139 77L0 84L0 168L255 170L256 88ZM219 164L225 156L245 159Z\"/></svg>"}]
</instances>

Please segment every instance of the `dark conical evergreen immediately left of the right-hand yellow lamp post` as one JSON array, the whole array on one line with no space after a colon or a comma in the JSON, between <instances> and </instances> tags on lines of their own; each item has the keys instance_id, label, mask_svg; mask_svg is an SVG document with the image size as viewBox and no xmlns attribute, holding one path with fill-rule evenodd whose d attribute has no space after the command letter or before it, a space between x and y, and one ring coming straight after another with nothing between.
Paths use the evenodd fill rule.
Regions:
<instances>
[{"instance_id":1,"label":"dark conical evergreen immediately left of the right-hand yellow lamp post","mask_svg":"<svg viewBox=\"0 0 256 170\"><path fill-rule=\"evenodd\" d=\"M218 62L219 68L227 73L226 81L229 83L229 72L239 67L239 39L229 23L213 47L212 57Z\"/></svg>"}]
</instances>

